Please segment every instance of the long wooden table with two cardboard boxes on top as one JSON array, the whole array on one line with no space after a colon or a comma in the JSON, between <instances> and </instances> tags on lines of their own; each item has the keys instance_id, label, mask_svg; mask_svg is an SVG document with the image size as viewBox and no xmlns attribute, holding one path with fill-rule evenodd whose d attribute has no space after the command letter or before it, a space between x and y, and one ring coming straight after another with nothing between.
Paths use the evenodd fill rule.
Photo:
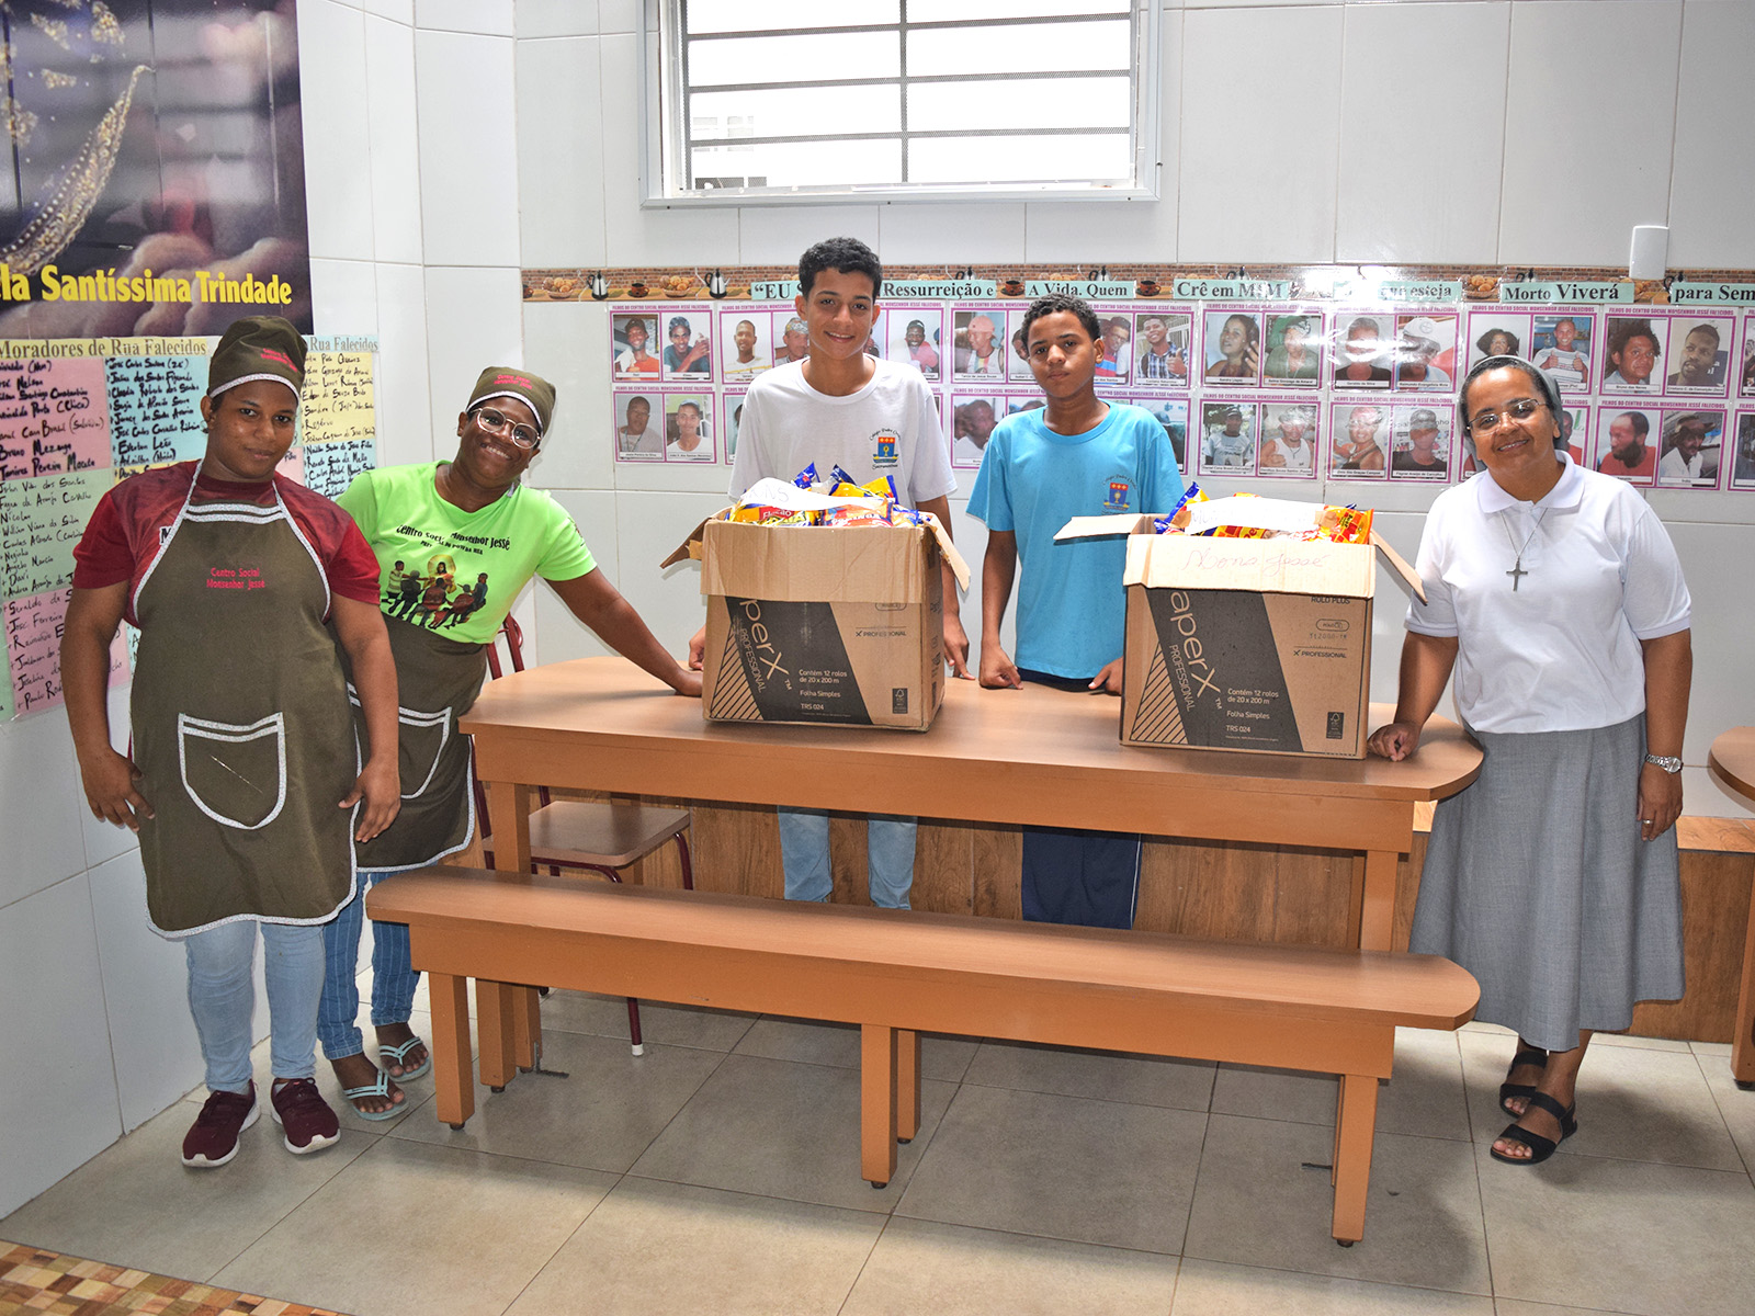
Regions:
<instances>
[{"instance_id":1,"label":"long wooden table with two cardboard boxes on top","mask_svg":"<svg viewBox=\"0 0 1755 1316\"><path fill-rule=\"evenodd\" d=\"M537 786L1314 846L1364 853L1350 926L1378 951L1390 949L1415 805L1455 795L1481 767L1441 718L1404 763L1141 749L1120 742L1113 697L948 686L925 733L746 726L704 721L697 700L620 658L581 658L490 681L462 728L490 788L495 867L512 872L530 867ZM534 1063L534 1000L477 984L483 1083L511 1081L514 1049Z\"/></svg>"}]
</instances>

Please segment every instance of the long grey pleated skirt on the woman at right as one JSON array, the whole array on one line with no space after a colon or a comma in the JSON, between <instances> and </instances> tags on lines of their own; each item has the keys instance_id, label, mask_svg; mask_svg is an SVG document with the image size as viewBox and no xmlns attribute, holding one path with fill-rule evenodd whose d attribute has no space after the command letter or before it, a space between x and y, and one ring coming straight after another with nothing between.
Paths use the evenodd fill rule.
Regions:
<instances>
[{"instance_id":1,"label":"long grey pleated skirt on the woman at right","mask_svg":"<svg viewBox=\"0 0 1755 1316\"><path fill-rule=\"evenodd\" d=\"M1548 1051L1680 997L1676 828L1639 837L1644 714L1476 740L1479 779L1432 819L1409 949L1460 963L1476 1018Z\"/></svg>"}]
</instances>

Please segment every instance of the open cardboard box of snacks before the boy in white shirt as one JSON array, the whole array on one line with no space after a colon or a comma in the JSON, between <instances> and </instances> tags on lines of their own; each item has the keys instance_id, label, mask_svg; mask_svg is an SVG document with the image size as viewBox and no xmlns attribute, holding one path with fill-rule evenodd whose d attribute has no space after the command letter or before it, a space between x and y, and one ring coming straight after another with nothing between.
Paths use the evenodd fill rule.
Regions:
<instances>
[{"instance_id":1,"label":"open cardboard box of snacks before the boy in white shirt","mask_svg":"<svg viewBox=\"0 0 1755 1316\"><path fill-rule=\"evenodd\" d=\"M937 526L704 521L663 565L700 558L709 721L923 732L944 702Z\"/></svg>"}]
</instances>

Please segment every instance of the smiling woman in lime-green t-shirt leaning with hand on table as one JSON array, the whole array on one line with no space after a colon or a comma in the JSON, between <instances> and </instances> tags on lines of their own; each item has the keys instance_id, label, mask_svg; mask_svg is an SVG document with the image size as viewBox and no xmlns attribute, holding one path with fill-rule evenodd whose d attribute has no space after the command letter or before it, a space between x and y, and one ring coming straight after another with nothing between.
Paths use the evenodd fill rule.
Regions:
<instances>
[{"instance_id":1,"label":"smiling woman in lime-green t-shirt leaning with hand on table","mask_svg":"<svg viewBox=\"0 0 1755 1316\"><path fill-rule=\"evenodd\" d=\"M372 1025L379 1069L365 1055L356 986L363 893L402 869L463 849L474 833L469 737L456 728L486 674L490 644L532 576L541 576L579 621L616 653L679 695L700 695L700 674L676 662L597 569L572 518L546 491L519 483L555 412L555 386L514 367L488 367L456 419L449 461L362 474L337 502L353 516L383 569L383 607L400 690L402 812L360 848L360 897L325 928L328 976L318 1016L323 1055L342 1095L365 1119L388 1119L404 1102L393 1079L432 1065L409 1028L419 976L409 930L372 925ZM407 611L390 588L423 581ZM404 616L397 616L404 612Z\"/></svg>"}]
</instances>

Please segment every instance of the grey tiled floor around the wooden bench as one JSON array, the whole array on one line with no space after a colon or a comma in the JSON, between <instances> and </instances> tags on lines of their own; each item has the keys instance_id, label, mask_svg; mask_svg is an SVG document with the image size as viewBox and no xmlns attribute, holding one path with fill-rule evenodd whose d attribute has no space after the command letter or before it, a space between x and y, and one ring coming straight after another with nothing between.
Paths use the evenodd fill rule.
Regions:
<instances>
[{"instance_id":1,"label":"grey tiled floor around the wooden bench","mask_svg":"<svg viewBox=\"0 0 1755 1316\"><path fill-rule=\"evenodd\" d=\"M621 1002L556 993L569 1077L477 1088L462 1134L418 1081L321 1156L261 1121L193 1172L186 1100L0 1237L358 1316L1755 1311L1755 1093L1725 1046L1601 1039L1581 1132L1527 1170L1486 1155L1509 1035L1404 1033L1343 1249L1327 1079L928 1039L920 1137L874 1191L853 1030L644 1021L635 1058Z\"/></svg>"}]
</instances>

